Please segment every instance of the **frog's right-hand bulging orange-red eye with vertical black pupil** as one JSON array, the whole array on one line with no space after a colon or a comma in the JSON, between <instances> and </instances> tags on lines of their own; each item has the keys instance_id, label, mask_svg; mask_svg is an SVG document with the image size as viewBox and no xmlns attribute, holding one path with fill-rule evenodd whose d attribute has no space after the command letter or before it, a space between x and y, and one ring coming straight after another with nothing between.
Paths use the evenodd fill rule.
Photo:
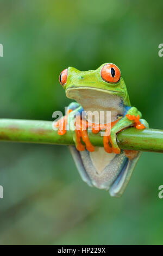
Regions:
<instances>
[{"instance_id":1,"label":"frog's right-hand bulging orange-red eye with vertical black pupil","mask_svg":"<svg viewBox=\"0 0 163 256\"><path fill-rule=\"evenodd\" d=\"M121 72L114 64L106 64L101 69L101 77L108 83L117 83L120 80Z\"/></svg>"}]
</instances>

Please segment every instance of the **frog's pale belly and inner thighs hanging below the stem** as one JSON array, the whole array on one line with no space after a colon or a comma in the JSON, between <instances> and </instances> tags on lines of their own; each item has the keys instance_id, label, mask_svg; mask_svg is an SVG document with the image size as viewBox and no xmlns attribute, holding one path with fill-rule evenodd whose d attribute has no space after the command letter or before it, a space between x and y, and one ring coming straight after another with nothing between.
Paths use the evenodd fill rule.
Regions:
<instances>
[{"instance_id":1,"label":"frog's pale belly and inner thighs hanging below the stem","mask_svg":"<svg viewBox=\"0 0 163 256\"><path fill-rule=\"evenodd\" d=\"M97 151L96 151L97 150ZM96 148L93 153L87 150L79 152L84 169L93 186L108 190L120 174L127 157L121 154L105 153L104 148ZM104 157L102 155L105 155Z\"/></svg>"}]
</instances>

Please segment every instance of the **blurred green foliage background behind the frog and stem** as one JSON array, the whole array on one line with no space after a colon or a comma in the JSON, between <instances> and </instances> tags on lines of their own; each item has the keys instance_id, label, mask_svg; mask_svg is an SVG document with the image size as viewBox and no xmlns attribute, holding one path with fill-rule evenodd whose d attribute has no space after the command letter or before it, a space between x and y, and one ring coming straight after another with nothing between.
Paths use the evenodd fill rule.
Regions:
<instances>
[{"instance_id":1,"label":"blurred green foliage background behind the frog and stem","mask_svg":"<svg viewBox=\"0 0 163 256\"><path fill-rule=\"evenodd\" d=\"M53 120L67 66L118 65L130 101L162 128L163 2L12 0L0 8L1 118ZM162 155L143 153L120 199L87 186L67 147L1 143L1 244L162 244Z\"/></svg>"}]
</instances>

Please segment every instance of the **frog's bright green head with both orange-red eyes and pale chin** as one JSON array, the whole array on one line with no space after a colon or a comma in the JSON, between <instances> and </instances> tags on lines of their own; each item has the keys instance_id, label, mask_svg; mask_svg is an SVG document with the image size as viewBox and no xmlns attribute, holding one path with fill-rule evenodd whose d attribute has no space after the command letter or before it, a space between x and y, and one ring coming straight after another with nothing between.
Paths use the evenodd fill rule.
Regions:
<instances>
[{"instance_id":1,"label":"frog's bright green head with both orange-red eyes and pale chin","mask_svg":"<svg viewBox=\"0 0 163 256\"><path fill-rule=\"evenodd\" d=\"M129 96L121 77L120 69L105 63L96 70L79 71L69 67L61 72L59 81L66 91L66 96L82 103L87 99L109 99L110 96L121 98L124 105L130 106Z\"/></svg>"}]
</instances>

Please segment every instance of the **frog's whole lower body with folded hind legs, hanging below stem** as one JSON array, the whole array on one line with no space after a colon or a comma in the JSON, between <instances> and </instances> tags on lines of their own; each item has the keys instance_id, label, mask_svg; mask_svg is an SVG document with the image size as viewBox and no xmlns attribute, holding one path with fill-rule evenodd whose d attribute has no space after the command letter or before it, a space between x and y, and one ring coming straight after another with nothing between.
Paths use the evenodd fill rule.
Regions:
<instances>
[{"instance_id":1,"label":"frog's whole lower body with folded hind legs, hanging below stem","mask_svg":"<svg viewBox=\"0 0 163 256\"><path fill-rule=\"evenodd\" d=\"M70 146L70 151L83 181L91 187L109 190L114 197L120 197L124 192L141 154L135 153L134 159L131 159L134 154L130 154L129 159L123 150L120 154L108 154L102 147L95 147L94 152L89 152Z\"/></svg>"}]
</instances>

